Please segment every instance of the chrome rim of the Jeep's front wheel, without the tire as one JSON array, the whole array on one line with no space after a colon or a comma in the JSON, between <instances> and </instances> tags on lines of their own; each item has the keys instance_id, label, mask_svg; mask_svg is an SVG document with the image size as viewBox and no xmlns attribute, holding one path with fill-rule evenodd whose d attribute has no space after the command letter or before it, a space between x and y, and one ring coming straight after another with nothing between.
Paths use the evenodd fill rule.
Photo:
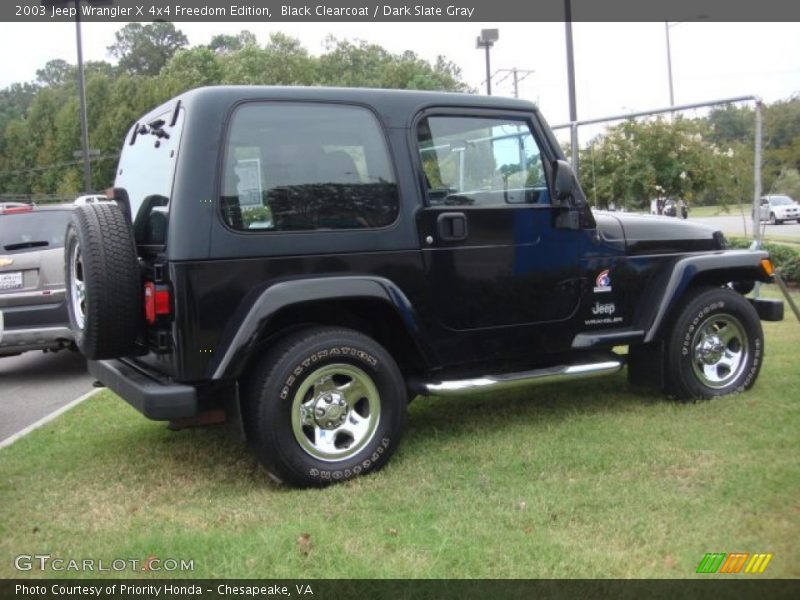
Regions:
<instances>
[{"instance_id":1,"label":"chrome rim of the Jeep's front wheel, without the tire","mask_svg":"<svg viewBox=\"0 0 800 600\"><path fill-rule=\"evenodd\" d=\"M703 385L722 389L747 366L750 347L744 327L727 314L708 317L692 338L692 370Z\"/></svg>"}]
</instances>

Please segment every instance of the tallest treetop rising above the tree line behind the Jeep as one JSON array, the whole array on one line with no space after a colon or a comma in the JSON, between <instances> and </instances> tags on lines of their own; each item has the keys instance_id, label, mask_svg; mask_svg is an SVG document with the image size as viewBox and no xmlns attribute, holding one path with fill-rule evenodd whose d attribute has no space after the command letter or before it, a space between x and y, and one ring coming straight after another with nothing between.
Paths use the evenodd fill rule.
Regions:
<instances>
[{"instance_id":1,"label":"tallest treetop rising above the tree line behind the Jeep","mask_svg":"<svg viewBox=\"0 0 800 600\"><path fill-rule=\"evenodd\" d=\"M158 75L172 55L189 43L183 32L164 21L128 23L114 36L109 54L119 59L120 69L135 75Z\"/></svg>"}]
</instances>

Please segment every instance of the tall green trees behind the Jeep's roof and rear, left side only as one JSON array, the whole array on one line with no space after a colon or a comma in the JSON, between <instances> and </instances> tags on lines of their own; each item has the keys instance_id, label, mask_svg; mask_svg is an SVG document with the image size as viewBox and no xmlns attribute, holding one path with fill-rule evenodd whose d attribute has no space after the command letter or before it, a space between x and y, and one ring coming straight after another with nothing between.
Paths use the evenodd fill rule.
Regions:
<instances>
[{"instance_id":1,"label":"tall green trees behind the Jeep's roof and rear, left side only","mask_svg":"<svg viewBox=\"0 0 800 600\"><path fill-rule=\"evenodd\" d=\"M128 128L151 108L204 85L329 85L471 91L444 57L429 62L414 52L394 54L376 44L329 37L311 55L300 41L274 33L217 35L189 47L172 23L129 23L108 52L118 62L87 62L85 89L92 188L114 180L116 156ZM74 153L81 148L77 67L49 61L36 80L0 90L0 193L74 197L83 188Z\"/></svg>"}]
</instances>

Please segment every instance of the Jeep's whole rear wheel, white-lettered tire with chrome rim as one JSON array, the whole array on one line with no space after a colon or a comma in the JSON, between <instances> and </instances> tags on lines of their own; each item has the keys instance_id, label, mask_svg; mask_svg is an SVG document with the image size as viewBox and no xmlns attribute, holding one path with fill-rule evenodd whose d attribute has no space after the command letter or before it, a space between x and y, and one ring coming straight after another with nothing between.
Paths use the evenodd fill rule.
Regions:
<instances>
[{"instance_id":1,"label":"Jeep's whole rear wheel, white-lettered tire with chrome rim","mask_svg":"<svg viewBox=\"0 0 800 600\"><path fill-rule=\"evenodd\" d=\"M248 438L267 470L299 486L383 466L406 419L405 382L377 342L348 329L306 329L260 363L246 392Z\"/></svg>"}]
</instances>

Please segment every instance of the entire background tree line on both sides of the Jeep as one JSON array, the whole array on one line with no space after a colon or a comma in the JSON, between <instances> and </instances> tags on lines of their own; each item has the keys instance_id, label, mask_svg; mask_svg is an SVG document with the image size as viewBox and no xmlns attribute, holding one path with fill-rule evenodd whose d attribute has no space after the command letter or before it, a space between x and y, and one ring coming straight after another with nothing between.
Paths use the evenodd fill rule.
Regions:
<instances>
[{"instance_id":1,"label":"entire background tree line on both sides of the Jeep","mask_svg":"<svg viewBox=\"0 0 800 600\"><path fill-rule=\"evenodd\" d=\"M219 84L330 85L474 92L440 56L394 54L376 44L329 37L315 56L296 38L250 31L189 47L172 23L129 23L108 47L117 59L88 62L90 146L99 151L92 187L114 179L121 141L136 118L191 88ZM763 189L800 199L800 96L767 105ZM754 113L727 106L707 115L628 120L580 150L581 181L592 204L647 209L655 198L690 204L749 203ZM76 67L49 61L35 81L0 90L0 193L74 196L81 190ZM567 153L569 154L569 153Z\"/></svg>"}]
</instances>

